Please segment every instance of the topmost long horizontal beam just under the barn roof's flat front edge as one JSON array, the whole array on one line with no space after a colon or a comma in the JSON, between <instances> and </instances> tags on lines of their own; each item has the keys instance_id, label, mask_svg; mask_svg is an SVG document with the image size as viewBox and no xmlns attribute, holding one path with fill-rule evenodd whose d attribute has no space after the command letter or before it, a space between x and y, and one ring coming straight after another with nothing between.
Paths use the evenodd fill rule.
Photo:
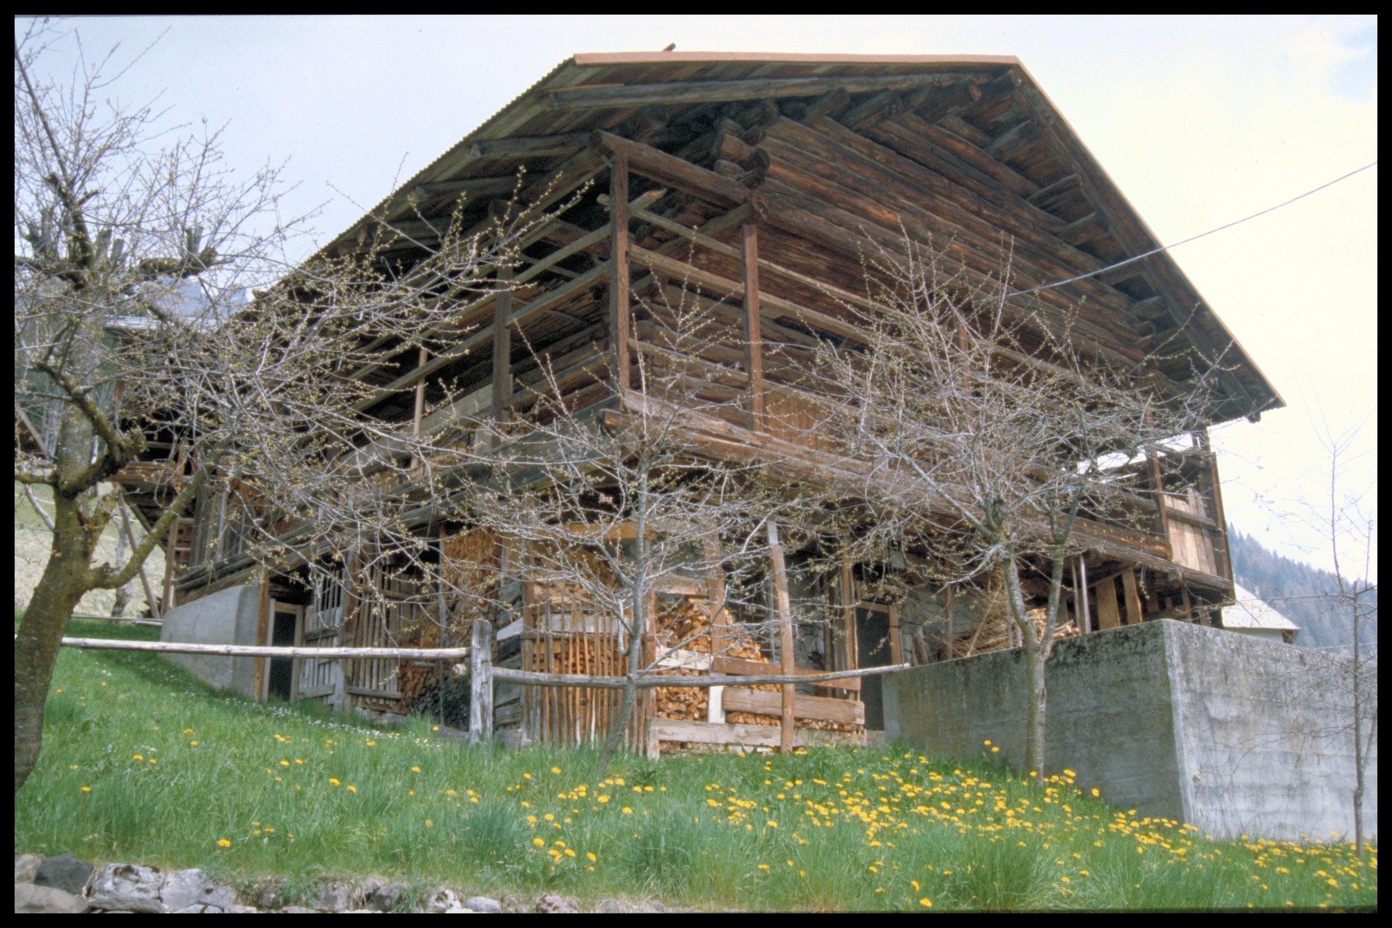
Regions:
<instances>
[{"instance_id":1,"label":"topmost long horizontal beam just under the barn roof's flat front edge","mask_svg":"<svg viewBox=\"0 0 1392 928\"><path fill-rule=\"evenodd\" d=\"M629 84L607 86L569 86L546 93L555 109L622 109L665 103L734 103L788 96L820 96L834 91L878 93L913 91L924 85L948 85L970 79L962 74L896 74L818 78L753 78L742 81L672 81L671 84Z\"/></svg>"}]
</instances>

